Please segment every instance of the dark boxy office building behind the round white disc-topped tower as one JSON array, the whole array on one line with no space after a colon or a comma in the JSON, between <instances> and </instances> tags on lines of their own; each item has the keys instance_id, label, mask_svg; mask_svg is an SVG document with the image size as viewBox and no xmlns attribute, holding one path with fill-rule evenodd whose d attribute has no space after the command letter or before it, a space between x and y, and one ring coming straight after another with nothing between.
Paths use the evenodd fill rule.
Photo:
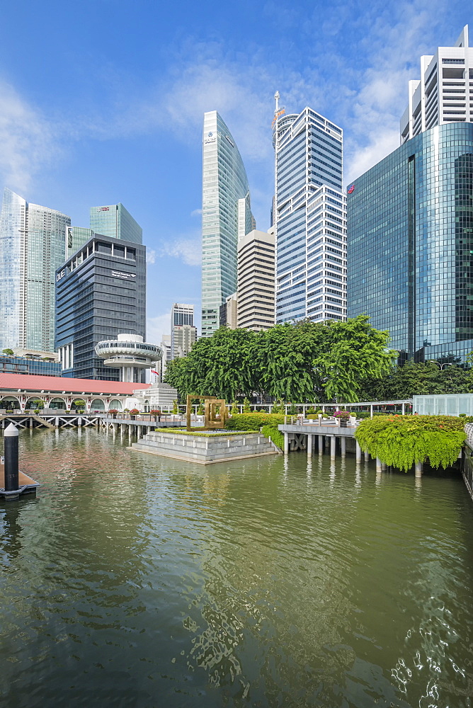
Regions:
<instances>
[{"instance_id":1,"label":"dark boxy office building behind the round white disc-topped tower","mask_svg":"<svg viewBox=\"0 0 473 708\"><path fill-rule=\"evenodd\" d=\"M96 234L56 272L56 349L63 376L119 381L95 353L118 334L145 338L146 247Z\"/></svg>"}]
</instances>

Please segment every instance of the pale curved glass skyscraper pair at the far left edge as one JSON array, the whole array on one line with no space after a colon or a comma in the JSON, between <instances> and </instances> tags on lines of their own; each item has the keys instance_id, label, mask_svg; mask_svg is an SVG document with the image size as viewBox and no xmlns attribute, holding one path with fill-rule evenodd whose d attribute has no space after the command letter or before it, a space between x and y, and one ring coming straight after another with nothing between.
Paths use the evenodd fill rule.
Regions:
<instances>
[{"instance_id":1,"label":"pale curved glass skyscraper pair at the far left edge","mask_svg":"<svg viewBox=\"0 0 473 708\"><path fill-rule=\"evenodd\" d=\"M71 219L5 188L0 215L0 349L53 351L55 273Z\"/></svg>"}]
</instances>

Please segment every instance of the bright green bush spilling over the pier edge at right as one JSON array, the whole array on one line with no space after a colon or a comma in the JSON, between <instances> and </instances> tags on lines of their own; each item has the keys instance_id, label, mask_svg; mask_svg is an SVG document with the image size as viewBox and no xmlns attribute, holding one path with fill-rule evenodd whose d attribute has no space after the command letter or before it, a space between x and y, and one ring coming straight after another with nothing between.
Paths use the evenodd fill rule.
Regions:
<instances>
[{"instance_id":1,"label":"bright green bush spilling over the pier edge at right","mask_svg":"<svg viewBox=\"0 0 473 708\"><path fill-rule=\"evenodd\" d=\"M466 434L465 418L455 416L376 416L361 421L355 438L362 450L407 472L415 462L449 467Z\"/></svg>"}]
</instances>

